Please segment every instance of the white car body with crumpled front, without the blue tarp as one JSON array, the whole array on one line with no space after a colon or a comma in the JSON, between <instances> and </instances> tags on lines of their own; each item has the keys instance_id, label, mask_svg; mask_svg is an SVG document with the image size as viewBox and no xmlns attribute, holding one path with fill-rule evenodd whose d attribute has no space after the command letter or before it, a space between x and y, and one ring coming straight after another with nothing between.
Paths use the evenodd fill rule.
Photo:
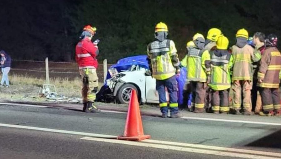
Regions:
<instances>
[{"instance_id":1,"label":"white car body with crumpled front, without the blue tarp","mask_svg":"<svg viewBox=\"0 0 281 159\"><path fill-rule=\"evenodd\" d=\"M106 80L106 85L111 94L119 103L129 103L132 89L135 89L140 103L159 103L159 96L156 91L156 80L151 77L145 68L133 65L131 70L124 70L112 74L112 78ZM116 72L116 70L109 70ZM108 92L108 91L107 91Z\"/></svg>"}]
</instances>

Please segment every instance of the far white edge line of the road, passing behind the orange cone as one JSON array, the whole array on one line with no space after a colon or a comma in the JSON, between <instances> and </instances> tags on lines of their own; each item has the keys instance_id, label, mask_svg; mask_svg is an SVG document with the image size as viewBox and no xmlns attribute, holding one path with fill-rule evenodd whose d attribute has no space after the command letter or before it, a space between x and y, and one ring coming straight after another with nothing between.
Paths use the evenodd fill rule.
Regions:
<instances>
[{"instance_id":1,"label":"far white edge line of the road, passing behind the orange cone","mask_svg":"<svg viewBox=\"0 0 281 159\"><path fill-rule=\"evenodd\" d=\"M40 107L40 108L48 108L48 106L33 105L33 104L0 103L0 105L17 105L17 106L26 106L26 107ZM104 112L104 113L127 114L126 112L121 112L121 111L111 111L111 110L101 110L101 112ZM281 126L281 123L254 122L254 121L246 121L246 120L230 120L230 119L219 119L219 118L199 118L199 117L181 117L181 118L182 118L182 119L194 119L194 120L217 121L217 122L229 122L229 123L247 123L247 124L261 124L261 125L274 125L274 126Z\"/></svg>"}]
</instances>

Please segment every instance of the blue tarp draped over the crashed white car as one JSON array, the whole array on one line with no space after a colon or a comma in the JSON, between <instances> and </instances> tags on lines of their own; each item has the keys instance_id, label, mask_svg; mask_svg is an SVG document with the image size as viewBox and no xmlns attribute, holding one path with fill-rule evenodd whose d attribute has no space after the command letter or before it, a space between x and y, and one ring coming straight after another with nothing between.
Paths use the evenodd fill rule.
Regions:
<instances>
[{"instance_id":1,"label":"blue tarp draped over the crashed white car","mask_svg":"<svg viewBox=\"0 0 281 159\"><path fill-rule=\"evenodd\" d=\"M123 59L120 59L117 61L115 65L112 65L110 68L116 68L118 72L121 70L129 70L132 65L139 65L139 67L149 69L148 61L146 60L147 55L138 55L138 56L131 56L131 57L126 57ZM106 79L111 78L109 72L107 72ZM180 75L177 76L177 81L178 81L178 103L182 104L183 103L183 88L185 84L185 79L186 79L186 68L183 67L181 68Z\"/></svg>"}]
</instances>

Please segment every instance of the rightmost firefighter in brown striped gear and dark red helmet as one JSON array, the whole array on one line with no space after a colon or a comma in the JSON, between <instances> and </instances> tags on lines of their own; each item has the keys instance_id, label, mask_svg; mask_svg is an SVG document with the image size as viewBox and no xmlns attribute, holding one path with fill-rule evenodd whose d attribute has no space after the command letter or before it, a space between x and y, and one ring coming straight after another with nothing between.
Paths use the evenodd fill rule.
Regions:
<instances>
[{"instance_id":1,"label":"rightmost firefighter in brown striped gear and dark red helmet","mask_svg":"<svg viewBox=\"0 0 281 159\"><path fill-rule=\"evenodd\" d=\"M263 105L263 111L259 115L280 115L281 105L278 88L281 55L277 49L277 36L269 34L265 41L265 46L258 72L258 86L261 87Z\"/></svg>"}]
</instances>

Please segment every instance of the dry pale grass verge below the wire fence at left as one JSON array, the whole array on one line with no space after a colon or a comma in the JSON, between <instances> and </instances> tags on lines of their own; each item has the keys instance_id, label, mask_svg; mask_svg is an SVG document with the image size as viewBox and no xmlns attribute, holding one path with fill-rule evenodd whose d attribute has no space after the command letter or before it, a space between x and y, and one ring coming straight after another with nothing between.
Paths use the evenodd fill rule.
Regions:
<instances>
[{"instance_id":1,"label":"dry pale grass verge below the wire fence at left","mask_svg":"<svg viewBox=\"0 0 281 159\"><path fill-rule=\"evenodd\" d=\"M0 75L0 78L2 76ZM45 79L32 78L27 75L9 75L11 86L0 89L0 97L5 100L45 100L39 98L39 89L42 84L46 84ZM51 78L50 84L54 84L59 95L66 97L81 98L81 79L75 78ZM99 84L102 86L102 83Z\"/></svg>"}]
</instances>

